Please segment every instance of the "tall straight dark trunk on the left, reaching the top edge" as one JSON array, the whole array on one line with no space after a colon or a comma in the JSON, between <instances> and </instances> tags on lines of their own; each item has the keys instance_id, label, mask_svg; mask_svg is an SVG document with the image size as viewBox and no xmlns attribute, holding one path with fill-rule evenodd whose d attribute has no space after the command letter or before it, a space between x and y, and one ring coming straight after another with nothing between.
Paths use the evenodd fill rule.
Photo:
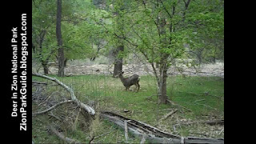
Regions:
<instances>
[{"instance_id":1,"label":"tall straight dark trunk on the left, reaching the top edge","mask_svg":"<svg viewBox=\"0 0 256 144\"><path fill-rule=\"evenodd\" d=\"M57 0L56 36L58 42L58 77L64 77L64 49L62 47L62 0Z\"/></svg>"}]
</instances>

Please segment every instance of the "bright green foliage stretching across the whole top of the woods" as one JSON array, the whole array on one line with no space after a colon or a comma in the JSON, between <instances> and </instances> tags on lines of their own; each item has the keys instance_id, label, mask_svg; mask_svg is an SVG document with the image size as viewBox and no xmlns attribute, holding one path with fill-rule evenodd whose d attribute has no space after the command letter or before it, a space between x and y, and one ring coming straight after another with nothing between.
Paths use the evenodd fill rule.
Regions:
<instances>
[{"instance_id":1,"label":"bright green foliage stretching across the whole top of the woods","mask_svg":"<svg viewBox=\"0 0 256 144\"><path fill-rule=\"evenodd\" d=\"M187 10L184 2L63 0L62 37L66 58L97 56L99 41L107 42L101 50L104 53L124 43L129 48L126 53L144 52L150 62L158 62L162 54L186 58L184 45L196 54L203 49L205 58L223 58L223 1L191 1ZM105 5L105 10L99 10L99 4ZM38 49L38 38L42 30L46 30L41 57L47 58L47 54L57 48L54 42L56 2L35 0L32 6L33 43ZM159 18L166 19L162 28ZM160 34L160 28L164 34ZM166 39L166 43L162 43L162 39Z\"/></svg>"}]
</instances>

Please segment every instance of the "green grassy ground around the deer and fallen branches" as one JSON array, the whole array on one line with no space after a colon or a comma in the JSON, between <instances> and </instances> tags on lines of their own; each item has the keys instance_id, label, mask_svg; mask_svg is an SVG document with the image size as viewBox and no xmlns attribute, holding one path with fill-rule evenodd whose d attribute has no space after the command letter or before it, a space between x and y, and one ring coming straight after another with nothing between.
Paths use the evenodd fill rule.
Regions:
<instances>
[{"instance_id":1,"label":"green grassy ground around the deer and fallen branches","mask_svg":"<svg viewBox=\"0 0 256 144\"><path fill-rule=\"evenodd\" d=\"M56 76L54 76L56 77ZM42 81L41 78L33 78ZM198 136L210 138L224 138L222 132L224 126L207 126L195 124L184 126L183 122L202 121L210 119L224 119L224 82L217 77L169 77L167 80L167 94L171 101L180 106L170 104L158 105L156 96L157 87L154 77L142 76L138 93L134 92L135 86L130 91L125 91L122 82L118 78L106 75L81 75L66 78L58 78L60 81L71 86L78 99L90 103L96 111L109 110L171 134L182 136ZM47 87L51 91L59 91L59 86ZM65 93L63 91L62 93ZM178 109L174 116L159 122L170 110ZM34 104L34 110L38 106ZM128 112L124 112L128 110ZM81 115L81 114L80 114ZM78 121L71 123L72 130L65 131L68 137L78 139L81 142L89 142L94 135L98 138L94 142L124 142L124 132L110 122L96 117L89 125L82 122L82 116ZM33 117L33 136L35 142L61 142L55 136L50 135L47 130L47 122L53 121L46 115ZM84 124L83 124L84 123ZM86 127L86 128L85 128ZM131 143L138 143L139 139L131 138Z\"/></svg>"}]
</instances>

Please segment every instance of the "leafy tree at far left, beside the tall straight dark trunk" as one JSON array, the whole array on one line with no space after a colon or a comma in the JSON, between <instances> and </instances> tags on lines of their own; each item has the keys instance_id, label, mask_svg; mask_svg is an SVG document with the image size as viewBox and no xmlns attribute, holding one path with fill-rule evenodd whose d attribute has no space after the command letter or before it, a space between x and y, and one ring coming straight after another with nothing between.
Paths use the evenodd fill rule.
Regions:
<instances>
[{"instance_id":1,"label":"leafy tree at far left, beside the tall straight dark trunk","mask_svg":"<svg viewBox=\"0 0 256 144\"><path fill-rule=\"evenodd\" d=\"M44 74L48 74L49 62L56 52L54 42L54 7L53 1L33 1L32 46L33 57L42 64ZM48 13L46 13L46 11Z\"/></svg>"}]
</instances>

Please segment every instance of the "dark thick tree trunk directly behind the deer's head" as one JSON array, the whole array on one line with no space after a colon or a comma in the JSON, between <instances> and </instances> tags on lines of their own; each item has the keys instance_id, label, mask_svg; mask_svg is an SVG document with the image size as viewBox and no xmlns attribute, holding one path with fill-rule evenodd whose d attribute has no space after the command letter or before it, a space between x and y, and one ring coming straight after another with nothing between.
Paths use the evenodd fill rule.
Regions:
<instances>
[{"instance_id":1,"label":"dark thick tree trunk directly behind the deer's head","mask_svg":"<svg viewBox=\"0 0 256 144\"><path fill-rule=\"evenodd\" d=\"M114 52L115 61L114 61L114 74L113 77L117 77L120 71L122 71L122 58L118 58L119 52L124 50L124 46L118 46L117 50Z\"/></svg>"}]
</instances>

